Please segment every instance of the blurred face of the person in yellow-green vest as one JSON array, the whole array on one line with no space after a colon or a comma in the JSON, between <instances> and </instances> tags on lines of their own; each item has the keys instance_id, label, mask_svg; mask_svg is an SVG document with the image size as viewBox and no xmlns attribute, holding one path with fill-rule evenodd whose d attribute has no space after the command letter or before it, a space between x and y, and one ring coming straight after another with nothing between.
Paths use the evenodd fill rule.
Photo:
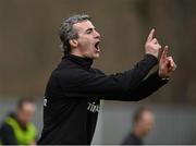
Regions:
<instances>
[{"instance_id":1,"label":"blurred face of the person in yellow-green vest","mask_svg":"<svg viewBox=\"0 0 196 146\"><path fill-rule=\"evenodd\" d=\"M32 102L25 102L20 109L17 109L17 118L23 123L28 123L34 113L35 113L36 107Z\"/></svg>"}]
</instances>

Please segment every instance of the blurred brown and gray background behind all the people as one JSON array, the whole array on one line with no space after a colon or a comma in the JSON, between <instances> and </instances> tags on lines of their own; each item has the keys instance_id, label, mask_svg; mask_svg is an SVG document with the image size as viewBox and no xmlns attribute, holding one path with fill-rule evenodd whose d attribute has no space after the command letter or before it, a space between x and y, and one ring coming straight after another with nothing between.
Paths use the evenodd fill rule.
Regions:
<instances>
[{"instance_id":1,"label":"blurred brown and gray background behind all the people","mask_svg":"<svg viewBox=\"0 0 196 146\"><path fill-rule=\"evenodd\" d=\"M143 58L152 27L177 64L170 83L140 102L101 101L93 143L120 144L133 110L149 105L156 125L145 144L196 144L195 0L0 0L0 121L21 97L33 97L40 134L45 87L62 58L58 28L77 13L89 14L101 34L94 66L107 74Z\"/></svg>"}]
</instances>

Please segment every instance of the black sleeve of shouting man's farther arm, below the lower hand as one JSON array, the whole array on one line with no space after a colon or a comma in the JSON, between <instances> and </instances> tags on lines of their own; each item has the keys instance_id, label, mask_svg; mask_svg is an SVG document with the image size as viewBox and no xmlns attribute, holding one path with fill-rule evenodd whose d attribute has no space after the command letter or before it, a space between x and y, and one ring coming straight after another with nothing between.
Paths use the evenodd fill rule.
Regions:
<instances>
[{"instance_id":1,"label":"black sleeve of shouting man's farther arm, below the lower hand","mask_svg":"<svg viewBox=\"0 0 196 146\"><path fill-rule=\"evenodd\" d=\"M166 85L169 80L162 80L159 77L158 72L149 75L145 81L143 81L137 87L130 89L128 92L124 93L121 98L112 98L112 100L121 100L121 101L139 101L160 87ZM107 98L102 98L107 99Z\"/></svg>"}]
</instances>

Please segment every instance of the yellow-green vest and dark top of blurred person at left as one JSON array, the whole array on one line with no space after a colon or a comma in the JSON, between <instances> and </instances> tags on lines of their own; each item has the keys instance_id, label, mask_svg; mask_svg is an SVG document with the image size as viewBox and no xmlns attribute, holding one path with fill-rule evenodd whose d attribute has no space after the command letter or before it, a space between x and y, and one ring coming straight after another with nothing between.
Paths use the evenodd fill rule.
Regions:
<instances>
[{"instance_id":1,"label":"yellow-green vest and dark top of blurred person at left","mask_svg":"<svg viewBox=\"0 0 196 146\"><path fill-rule=\"evenodd\" d=\"M29 145L36 139L36 127L33 123L22 125L14 113L8 115L0 127L0 144Z\"/></svg>"}]
</instances>

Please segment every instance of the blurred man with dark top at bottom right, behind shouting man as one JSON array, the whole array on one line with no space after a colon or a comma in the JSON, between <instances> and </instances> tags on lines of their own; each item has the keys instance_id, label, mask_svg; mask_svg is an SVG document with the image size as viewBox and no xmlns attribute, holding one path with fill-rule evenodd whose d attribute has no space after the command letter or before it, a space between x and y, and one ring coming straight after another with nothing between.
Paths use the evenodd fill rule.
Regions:
<instances>
[{"instance_id":1,"label":"blurred man with dark top at bottom right, behind shouting man","mask_svg":"<svg viewBox=\"0 0 196 146\"><path fill-rule=\"evenodd\" d=\"M123 145L143 145L143 138L151 131L154 113L148 107L137 109L133 117L133 130L123 141Z\"/></svg>"}]
</instances>

